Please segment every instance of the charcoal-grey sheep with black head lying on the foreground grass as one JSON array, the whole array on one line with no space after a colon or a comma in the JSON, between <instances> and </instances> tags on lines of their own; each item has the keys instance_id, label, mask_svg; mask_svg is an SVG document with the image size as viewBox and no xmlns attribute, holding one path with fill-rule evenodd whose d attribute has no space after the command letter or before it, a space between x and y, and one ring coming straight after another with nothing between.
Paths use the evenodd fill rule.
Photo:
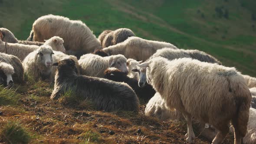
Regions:
<instances>
[{"instance_id":1,"label":"charcoal-grey sheep with black head lying on the foreground grass","mask_svg":"<svg viewBox=\"0 0 256 144\"><path fill-rule=\"evenodd\" d=\"M57 66L51 99L57 99L67 90L79 97L92 100L96 109L104 111L139 111L139 100L131 87L125 83L107 79L76 75L75 62L64 59Z\"/></svg>"}]
</instances>

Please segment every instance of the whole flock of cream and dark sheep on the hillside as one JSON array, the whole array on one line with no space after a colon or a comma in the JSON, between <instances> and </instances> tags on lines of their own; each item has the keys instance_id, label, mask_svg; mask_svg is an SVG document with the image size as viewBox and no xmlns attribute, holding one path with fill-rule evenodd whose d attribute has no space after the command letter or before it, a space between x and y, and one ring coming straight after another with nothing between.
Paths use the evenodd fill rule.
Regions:
<instances>
[{"instance_id":1,"label":"whole flock of cream and dark sheep on the hillside","mask_svg":"<svg viewBox=\"0 0 256 144\"><path fill-rule=\"evenodd\" d=\"M126 28L97 39L79 20L46 15L25 41L0 28L0 84L24 83L24 73L54 81L52 99L72 90L98 110L138 112L138 98L148 101L146 115L187 121L189 143L193 123L213 144L229 131L235 144L256 144L256 78L199 50L142 39Z\"/></svg>"}]
</instances>

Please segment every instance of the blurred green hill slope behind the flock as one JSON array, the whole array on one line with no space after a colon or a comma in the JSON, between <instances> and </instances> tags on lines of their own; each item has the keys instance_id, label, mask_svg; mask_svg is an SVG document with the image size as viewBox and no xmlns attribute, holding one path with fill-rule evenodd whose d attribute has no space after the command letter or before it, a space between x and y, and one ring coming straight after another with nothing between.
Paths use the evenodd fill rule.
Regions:
<instances>
[{"instance_id":1,"label":"blurred green hill slope behind the flock","mask_svg":"<svg viewBox=\"0 0 256 144\"><path fill-rule=\"evenodd\" d=\"M82 20L98 36L127 27L145 39L199 49L256 76L256 1L253 0L0 0L0 26L29 36L39 16Z\"/></svg>"}]
</instances>

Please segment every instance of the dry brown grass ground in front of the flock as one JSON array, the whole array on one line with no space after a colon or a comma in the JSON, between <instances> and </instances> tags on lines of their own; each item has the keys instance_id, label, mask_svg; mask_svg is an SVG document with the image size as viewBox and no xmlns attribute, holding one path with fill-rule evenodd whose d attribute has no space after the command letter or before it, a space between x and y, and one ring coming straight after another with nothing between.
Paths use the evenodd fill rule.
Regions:
<instances>
[{"instance_id":1,"label":"dry brown grass ground in front of the flock","mask_svg":"<svg viewBox=\"0 0 256 144\"><path fill-rule=\"evenodd\" d=\"M19 101L16 105L0 107L0 127L6 121L17 121L35 135L30 143L133 143L133 144L184 144L187 127L184 122L161 122L144 115L145 105L139 114L127 111L95 111L88 101L69 103L63 98L52 101L49 96L53 85L46 82L28 82L17 86ZM74 102L74 101L73 101ZM140 129L140 131L138 131ZM110 134L110 131L115 134ZM225 144L233 141L226 138ZM3 140L0 140L3 142ZM208 144L197 137L197 144Z\"/></svg>"}]
</instances>

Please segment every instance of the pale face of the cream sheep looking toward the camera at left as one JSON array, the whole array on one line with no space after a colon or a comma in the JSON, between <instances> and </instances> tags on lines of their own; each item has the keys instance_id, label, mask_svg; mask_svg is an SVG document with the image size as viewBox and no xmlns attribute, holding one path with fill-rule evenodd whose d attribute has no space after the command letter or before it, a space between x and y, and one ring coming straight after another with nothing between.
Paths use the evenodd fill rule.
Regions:
<instances>
[{"instance_id":1,"label":"pale face of the cream sheep looking toward the camera at left","mask_svg":"<svg viewBox=\"0 0 256 144\"><path fill-rule=\"evenodd\" d=\"M42 65L45 65L49 68L53 63L53 50L50 48L41 48L39 49L38 55L38 62Z\"/></svg>"}]
</instances>

